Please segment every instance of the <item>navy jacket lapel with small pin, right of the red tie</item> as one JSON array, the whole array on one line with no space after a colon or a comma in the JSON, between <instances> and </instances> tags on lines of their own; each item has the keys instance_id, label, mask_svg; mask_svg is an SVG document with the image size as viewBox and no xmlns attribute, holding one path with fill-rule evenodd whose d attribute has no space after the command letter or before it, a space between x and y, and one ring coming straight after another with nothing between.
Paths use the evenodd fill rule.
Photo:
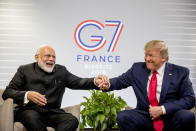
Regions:
<instances>
[{"instance_id":1,"label":"navy jacket lapel with small pin, right of the red tie","mask_svg":"<svg viewBox=\"0 0 196 131\"><path fill-rule=\"evenodd\" d=\"M159 103L162 103L163 100L165 99L165 96L167 94L167 90L169 88L170 82L171 82L171 78L173 76L173 72L172 72L172 67L169 63L166 63L165 65L165 72L164 72L164 76L163 76L163 83L162 83L162 89L161 89L161 95L159 98Z\"/></svg>"}]
</instances>

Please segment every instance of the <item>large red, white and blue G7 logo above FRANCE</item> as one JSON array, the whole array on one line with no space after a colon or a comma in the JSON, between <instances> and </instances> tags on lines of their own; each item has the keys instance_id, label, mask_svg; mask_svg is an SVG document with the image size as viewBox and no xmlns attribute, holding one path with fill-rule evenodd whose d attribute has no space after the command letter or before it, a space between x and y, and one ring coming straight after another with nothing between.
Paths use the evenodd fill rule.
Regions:
<instances>
[{"instance_id":1,"label":"large red, white and blue G7 logo above FRANCE","mask_svg":"<svg viewBox=\"0 0 196 131\"><path fill-rule=\"evenodd\" d=\"M102 23L100 23L99 21L96 21L96 20L83 21L76 27L76 30L74 32L74 40L75 40L76 44L81 49L83 49L85 51L97 51L97 50L101 49L106 44L106 40L104 39L103 36L91 35L91 41L97 41L97 44L89 45L89 44L84 43L81 40L81 32L84 28L86 28L88 26L94 26L99 30L104 29L104 25ZM108 52L113 52L115 47L116 47L116 44L118 42L118 39L120 37L120 34L122 32L122 29L123 29L124 25L120 21L105 21L105 26L114 26L114 27L116 27L113 38L112 38L112 40L110 42L110 45L107 49Z\"/></svg>"}]
</instances>

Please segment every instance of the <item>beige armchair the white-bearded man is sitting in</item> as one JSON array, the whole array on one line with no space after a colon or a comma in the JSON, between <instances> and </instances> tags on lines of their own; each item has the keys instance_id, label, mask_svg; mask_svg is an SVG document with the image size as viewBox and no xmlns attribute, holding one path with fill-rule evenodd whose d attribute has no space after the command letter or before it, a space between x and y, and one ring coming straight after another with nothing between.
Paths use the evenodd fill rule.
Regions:
<instances>
[{"instance_id":1,"label":"beige armchair the white-bearded man is sitting in","mask_svg":"<svg viewBox=\"0 0 196 131\"><path fill-rule=\"evenodd\" d=\"M3 89L0 89L0 131L27 131L20 122L14 122L14 104L12 99L3 100ZM80 122L80 105L63 108L68 113L72 113ZM52 127L47 127L48 131L55 131ZM76 131L80 131L80 125Z\"/></svg>"}]
</instances>

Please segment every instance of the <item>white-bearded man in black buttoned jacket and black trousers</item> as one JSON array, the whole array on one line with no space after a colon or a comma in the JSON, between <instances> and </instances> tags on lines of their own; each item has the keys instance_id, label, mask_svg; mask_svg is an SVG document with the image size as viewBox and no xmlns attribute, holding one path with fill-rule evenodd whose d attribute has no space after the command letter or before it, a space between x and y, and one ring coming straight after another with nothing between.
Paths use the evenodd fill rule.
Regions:
<instances>
[{"instance_id":1,"label":"white-bearded man in black buttoned jacket and black trousers","mask_svg":"<svg viewBox=\"0 0 196 131\"><path fill-rule=\"evenodd\" d=\"M42 46L35 54L35 63L20 66L3 93L3 99L13 98L18 104L15 121L28 131L75 131L78 120L64 112L61 102L65 87L71 89L98 89L99 79L79 78L64 66L55 64L56 55L50 46Z\"/></svg>"}]
</instances>

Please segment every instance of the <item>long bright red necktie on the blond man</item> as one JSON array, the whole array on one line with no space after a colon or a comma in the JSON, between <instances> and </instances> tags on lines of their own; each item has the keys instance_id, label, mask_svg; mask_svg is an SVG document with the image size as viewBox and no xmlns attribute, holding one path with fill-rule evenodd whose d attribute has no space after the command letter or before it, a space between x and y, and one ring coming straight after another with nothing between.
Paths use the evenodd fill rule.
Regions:
<instances>
[{"instance_id":1,"label":"long bright red necktie on the blond man","mask_svg":"<svg viewBox=\"0 0 196 131\"><path fill-rule=\"evenodd\" d=\"M148 91L148 100L150 102L151 106L158 106L159 102L156 97L156 90L157 90L157 72L154 71L153 75L150 80L149 84L149 91ZM162 131L163 130L163 120L160 118L158 120L154 120L154 129L156 131Z\"/></svg>"}]
</instances>

